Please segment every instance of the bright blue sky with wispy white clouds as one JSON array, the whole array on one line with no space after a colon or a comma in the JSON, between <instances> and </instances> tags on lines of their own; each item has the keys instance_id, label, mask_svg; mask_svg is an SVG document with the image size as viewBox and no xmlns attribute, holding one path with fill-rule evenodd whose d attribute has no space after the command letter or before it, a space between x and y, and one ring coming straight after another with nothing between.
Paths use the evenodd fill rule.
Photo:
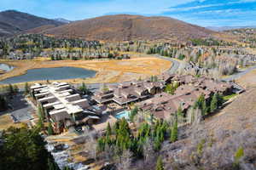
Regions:
<instances>
[{"instance_id":1,"label":"bright blue sky with wispy white clouds","mask_svg":"<svg viewBox=\"0 0 256 170\"><path fill-rule=\"evenodd\" d=\"M256 0L0 0L46 18L83 20L104 14L163 15L199 26L256 26Z\"/></svg>"}]
</instances>

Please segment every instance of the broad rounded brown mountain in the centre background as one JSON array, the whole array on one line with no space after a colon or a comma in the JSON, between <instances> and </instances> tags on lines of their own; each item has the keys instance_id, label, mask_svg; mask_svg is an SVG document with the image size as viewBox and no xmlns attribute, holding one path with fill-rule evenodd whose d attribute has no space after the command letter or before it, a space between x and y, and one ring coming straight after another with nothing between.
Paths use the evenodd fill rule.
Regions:
<instances>
[{"instance_id":1,"label":"broad rounded brown mountain in the centre background","mask_svg":"<svg viewBox=\"0 0 256 170\"><path fill-rule=\"evenodd\" d=\"M216 32L169 17L141 15L105 15L88 20L74 21L41 33L55 37L79 37L87 40L174 40L212 37Z\"/></svg>"}]
</instances>

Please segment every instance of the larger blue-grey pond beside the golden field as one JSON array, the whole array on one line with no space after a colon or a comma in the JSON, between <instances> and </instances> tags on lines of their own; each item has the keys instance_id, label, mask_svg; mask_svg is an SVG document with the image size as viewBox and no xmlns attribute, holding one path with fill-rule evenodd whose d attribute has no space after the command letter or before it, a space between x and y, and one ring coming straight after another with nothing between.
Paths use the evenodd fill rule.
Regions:
<instances>
[{"instance_id":1,"label":"larger blue-grey pond beside the golden field","mask_svg":"<svg viewBox=\"0 0 256 170\"><path fill-rule=\"evenodd\" d=\"M96 71L76 67L56 67L28 70L25 75L10 77L0 81L0 84L33 82L42 80L63 80L73 78L95 77Z\"/></svg>"}]
</instances>

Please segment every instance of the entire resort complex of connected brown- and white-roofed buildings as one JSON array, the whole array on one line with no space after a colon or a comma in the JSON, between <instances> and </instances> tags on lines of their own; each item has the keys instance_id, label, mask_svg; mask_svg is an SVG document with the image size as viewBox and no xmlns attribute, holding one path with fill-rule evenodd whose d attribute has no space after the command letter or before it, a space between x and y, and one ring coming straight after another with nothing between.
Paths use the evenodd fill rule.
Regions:
<instances>
[{"instance_id":1,"label":"entire resort complex of connected brown- and white-roofed buildings","mask_svg":"<svg viewBox=\"0 0 256 170\"><path fill-rule=\"evenodd\" d=\"M174 93L166 87L177 84ZM129 117L132 105L140 111L148 112L154 119L169 120L181 109L183 113L204 96L210 102L214 94L237 93L234 82L218 82L207 77L191 75L178 76L163 73L147 80L122 82L102 87L90 97L84 98L78 89L67 82L36 83L30 87L32 102L44 111L45 121L52 122L55 133L67 132L70 127L93 127L101 122L104 115L118 119ZM119 116L120 113L125 114ZM113 121L112 120L112 121ZM108 119L102 126L107 126Z\"/></svg>"}]
</instances>

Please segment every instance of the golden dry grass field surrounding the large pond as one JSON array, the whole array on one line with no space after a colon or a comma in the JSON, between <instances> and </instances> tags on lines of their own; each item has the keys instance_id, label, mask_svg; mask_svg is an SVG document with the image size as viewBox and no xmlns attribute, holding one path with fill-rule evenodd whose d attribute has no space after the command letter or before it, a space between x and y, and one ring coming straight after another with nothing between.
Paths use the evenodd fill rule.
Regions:
<instances>
[{"instance_id":1,"label":"golden dry grass field surrounding the large pond","mask_svg":"<svg viewBox=\"0 0 256 170\"><path fill-rule=\"evenodd\" d=\"M172 65L171 61L154 57L137 57L132 59L111 59L111 60L0 60L0 63L14 65L15 69L0 75L0 81L8 77L16 77L25 74L27 70L36 68L50 68L61 66L73 66L97 71L96 77L87 79L63 80L65 82L124 82L138 78L159 75Z\"/></svg>"}]
</instances>

